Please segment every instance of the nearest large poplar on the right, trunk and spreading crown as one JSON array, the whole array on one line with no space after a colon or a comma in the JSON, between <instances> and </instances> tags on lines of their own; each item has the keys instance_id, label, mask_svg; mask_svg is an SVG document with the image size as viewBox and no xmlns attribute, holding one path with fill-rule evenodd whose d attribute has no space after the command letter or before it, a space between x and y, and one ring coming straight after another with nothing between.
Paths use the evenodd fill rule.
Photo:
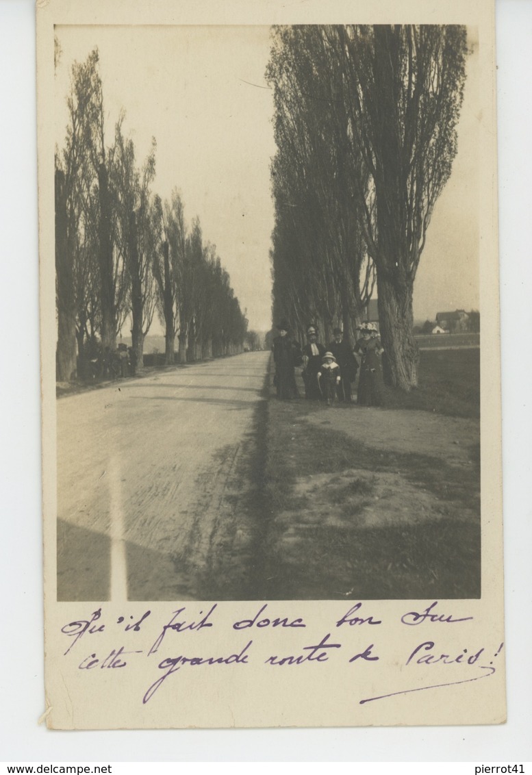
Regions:
<instances>
[{"instance_id":1,"label":"nearest large poplar on the right, trunk and spreading crown","mask_svg":"<svg viewBox=\"0 0 532 775\"><path fill-rule=\"evenodd\" d=\"M350 115L351 150L368 174L355 188L377 267L389 381L417 384L413 286L437 198L457 152L467 55L463 26L326 29L344 74L334 97Z\"/></svg>"}]
</instances>

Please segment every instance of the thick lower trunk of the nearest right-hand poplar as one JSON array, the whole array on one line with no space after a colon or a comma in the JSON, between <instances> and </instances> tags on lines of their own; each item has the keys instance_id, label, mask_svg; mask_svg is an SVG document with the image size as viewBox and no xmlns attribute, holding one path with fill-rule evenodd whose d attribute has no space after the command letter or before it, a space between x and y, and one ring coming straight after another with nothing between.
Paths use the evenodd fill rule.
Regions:
<instances>
[{"instance_id":1,"label":"thick lower trunk of the nearest right-hand poplar","mask_svg":"<svg viewBox=\"0 0 532 775\"><path fill-rule=\"evenodd\" d=\"M412 286L401 288L389 274L378 277L378 319L385 381L409 392L417 387L419 350L413 336Z\"/></svg>"}]
</instances>

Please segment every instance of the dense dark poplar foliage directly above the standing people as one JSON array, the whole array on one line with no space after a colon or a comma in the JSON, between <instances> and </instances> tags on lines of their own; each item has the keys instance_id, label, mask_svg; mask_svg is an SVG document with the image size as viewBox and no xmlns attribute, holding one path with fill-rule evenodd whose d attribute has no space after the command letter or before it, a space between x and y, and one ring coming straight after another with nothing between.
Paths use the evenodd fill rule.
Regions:
<instances>
[{"instance_id":1,"label":"dense dark poplar foliage directly above the standing people","mask_svg":"<svg viewBox=\"0 0 532 775\"><path fill-rule=\"evenodd\" d=\"M275 313L299 328L320 319L326 336L338 322L348 332L375 275L354 201L349 119L331 99L341 74L331 67L323 29L277 28L267 77L278 146L271 167Z\"/></svg>"}]
</instances>

